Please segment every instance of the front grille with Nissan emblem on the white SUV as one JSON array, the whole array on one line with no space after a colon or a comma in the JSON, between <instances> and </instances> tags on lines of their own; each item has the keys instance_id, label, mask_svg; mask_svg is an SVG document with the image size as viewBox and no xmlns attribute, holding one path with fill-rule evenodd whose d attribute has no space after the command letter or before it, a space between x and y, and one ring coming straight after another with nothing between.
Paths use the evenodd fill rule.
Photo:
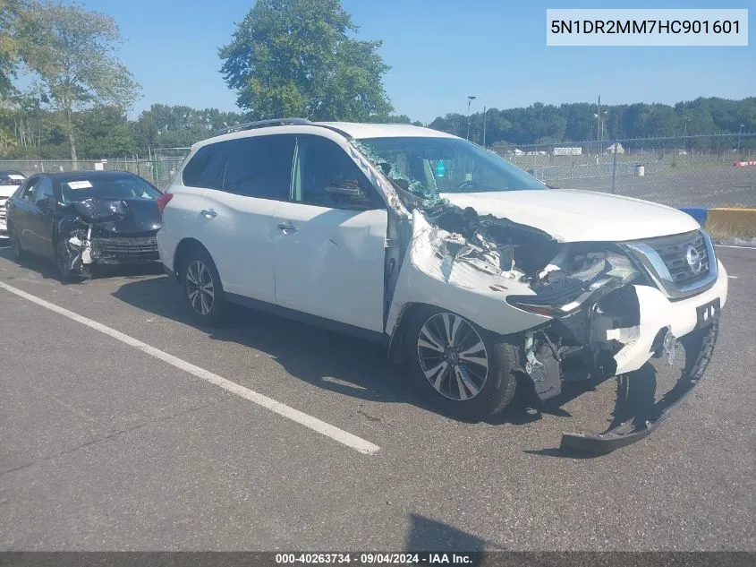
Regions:
<instances>
[{"instance_id":1,"label":"front grille with Nissan emblem on the white SUV","mask_svg":"<svg viewBox=\"0 0 756 567\"><path fill-rule=\"evenodd\" d=\"M646 241L646 244L661 257L677 288L690 286L709 275L709 251L698 230L683 235L654 238ZM689 251L692 260L700 260L700 270L695 269L699 262L695 262L693 266L688 262Z\"/></svg>"}]
</instances>

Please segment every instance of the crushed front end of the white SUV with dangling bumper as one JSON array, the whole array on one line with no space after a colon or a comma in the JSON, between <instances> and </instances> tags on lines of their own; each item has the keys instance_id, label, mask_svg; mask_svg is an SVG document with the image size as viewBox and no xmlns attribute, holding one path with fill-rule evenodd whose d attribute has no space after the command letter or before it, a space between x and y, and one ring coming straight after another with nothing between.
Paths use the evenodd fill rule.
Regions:
<instances>
[{"instance_id":1,"label":"crushed front end of the white SUV with dangling bumper","mask_svg":"<svg viewBox=\"0 0 756 567\"><path fill-rule=\"evenodd\" d=\"M519 371L542 402L558 399L565 383L630 380L652 357L673 364L681 342L686 355L694 351L643 419L602 434L565 434L563 448L601 453L638 441L700 381L727 296L726 271L703 231L560 243L446 204L415 210L412 224L395 304L432 298L505 336L520 349ZM508 311L497 307L502 299Z\"/></svg>"}]
</instances>

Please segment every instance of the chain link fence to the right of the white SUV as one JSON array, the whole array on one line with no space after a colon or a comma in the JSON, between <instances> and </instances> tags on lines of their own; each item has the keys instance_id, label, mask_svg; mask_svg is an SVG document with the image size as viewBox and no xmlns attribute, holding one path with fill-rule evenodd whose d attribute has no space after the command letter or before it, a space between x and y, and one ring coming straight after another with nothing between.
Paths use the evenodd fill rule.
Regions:
<instances>
[{"instance_id":1,"label":"chain link fence to the right of the white SUV","mask_svg":"<svg viewBox=\"0 0 756 567\"><path fill-rule=\"evenodd\" d=\"M674 207L756 207L756 133L497 145L548 185Z\"/></svg>"}]
</instances>

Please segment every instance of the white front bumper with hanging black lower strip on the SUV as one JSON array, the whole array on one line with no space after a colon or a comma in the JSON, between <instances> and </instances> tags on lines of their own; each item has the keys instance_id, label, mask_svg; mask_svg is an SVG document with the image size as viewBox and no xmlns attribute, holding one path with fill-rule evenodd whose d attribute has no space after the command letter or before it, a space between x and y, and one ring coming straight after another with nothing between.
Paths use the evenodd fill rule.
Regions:
<instances>
[{"instance_id":1,"label":"white front bumper with hanging black lower strip on the SUV","mask_svg":"<svg viewBox=\"0 0 756 567\"><path fill-rule=\"evenodd\" d=\"M565 433L563 450L594 454L615 451L653 433L676 408L701 378L709 365L719 328L719 309L727 299L727 273L718 263L716 283L697 296L670 301L656 288L634 286L640 306L640 324L631 330L608 330L606 339L628 339L615 355L616 375L620 391L629 386L627 373L645 365L658 349L659 334L667 330L685 345L686 362L683 373L662 399L647 408L642 416L635 416L602 434Z\"/></svg>"}]
</instances>

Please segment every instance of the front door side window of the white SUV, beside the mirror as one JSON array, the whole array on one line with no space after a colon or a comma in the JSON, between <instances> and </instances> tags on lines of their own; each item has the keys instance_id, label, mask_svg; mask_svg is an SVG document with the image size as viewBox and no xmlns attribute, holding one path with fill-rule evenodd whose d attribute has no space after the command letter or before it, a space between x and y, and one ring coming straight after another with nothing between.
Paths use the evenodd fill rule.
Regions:
<instances>
[{"instance_id":1,"label":"front door side window of the white SUV, beside the mirror","mask_svg":"<svg viewBox=\"0 0 756 567\"><path fill-rule=\"evenodd\" d=\"M296 154L293 202L332 209L384 208L375 188L335 142L320 136L300 136ZM327 192L327 187L342 187L345 192ZM361 197L346 193L353 189L360 189Z\"/></svg>"}]
</instances>

